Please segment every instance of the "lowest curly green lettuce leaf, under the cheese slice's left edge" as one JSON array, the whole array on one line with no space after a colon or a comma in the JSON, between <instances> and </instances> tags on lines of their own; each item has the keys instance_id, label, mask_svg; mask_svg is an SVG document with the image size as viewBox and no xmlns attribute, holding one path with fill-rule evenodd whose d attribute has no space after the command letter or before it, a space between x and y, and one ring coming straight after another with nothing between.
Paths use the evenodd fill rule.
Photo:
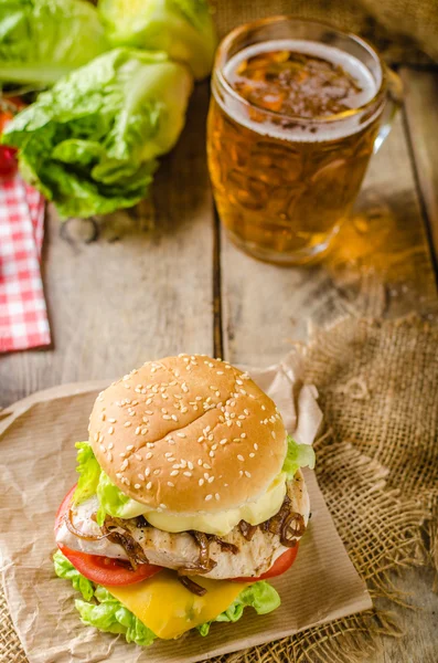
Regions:
<instances>
[{"instance_id":1,"label":"lowest curly green lettuce leaf, under the cheese slice's left edge","mask_svg":"<svg viewBox=\"0 0 438 663\"><path fill-rule=\"evenodd\" d=\"M127 642L135 642L140 646L148 646L156 640L157 635L128 608L115 599L105 587L96 587L95 598L98 601L97 604L81 599L75 601L75 607L84 624L107 633L121 633Z\"/></svg>"}]
</instances>

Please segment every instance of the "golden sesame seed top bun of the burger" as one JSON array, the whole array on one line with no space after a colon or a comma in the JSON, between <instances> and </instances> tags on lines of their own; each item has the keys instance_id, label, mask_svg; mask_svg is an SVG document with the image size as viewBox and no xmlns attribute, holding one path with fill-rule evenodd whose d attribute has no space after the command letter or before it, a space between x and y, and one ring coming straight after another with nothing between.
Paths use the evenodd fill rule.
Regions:
<instances>
[{"instance_id":1,"label":"golden sesame seed top bun of the burger","mask_svg":"<svg viewBox=\"0 0 438 663\"><path fill-rule=\"evenodd\" d=\"M270 398L246 373L205 355L148 361L114 382L96 399L89 439L126 495L184 515L257 499L287 450Z\"/></svg>"}]
</instances>

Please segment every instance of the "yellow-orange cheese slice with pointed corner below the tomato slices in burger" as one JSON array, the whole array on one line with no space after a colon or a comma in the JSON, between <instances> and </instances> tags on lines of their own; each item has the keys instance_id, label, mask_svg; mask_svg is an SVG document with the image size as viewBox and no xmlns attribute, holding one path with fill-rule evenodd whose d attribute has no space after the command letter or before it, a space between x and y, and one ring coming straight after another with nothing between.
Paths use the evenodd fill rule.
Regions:
<instances>
[{"instance_id":1,"label":"yellow-orange cheese slice with pointed corner below the tomato slices in burger","mask_svg":"<svg viewBox=\"0 0 438 663\"><path fill-rule=\"evenodd\" d=\"M106 589L156 635L170 640L215 619L247 587L243 582L210 580L200 576L195 581L207 590L203 597L185 589L175 572L169 570L136 585Z\"/></svg>"}]
</instances>

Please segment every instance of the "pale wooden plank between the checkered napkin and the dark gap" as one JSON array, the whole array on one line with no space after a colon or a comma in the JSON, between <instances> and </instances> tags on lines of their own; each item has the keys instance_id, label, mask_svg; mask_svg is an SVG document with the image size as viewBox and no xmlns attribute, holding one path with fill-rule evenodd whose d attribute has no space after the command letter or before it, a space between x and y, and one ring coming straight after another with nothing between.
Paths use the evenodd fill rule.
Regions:
<instances>
[{"instance_id":1,"label":"pale wooden plank between the checkered napkin and the dark gap","mask_svg":"<svg viewBox=\"0 0 438 663\"><path fill-rule=\"evenodd\" d=\"M118 213L87 244L77 228L63 239L51 214L43 270L53 348L0 359L2 406L52 385L119 376L148 358L213 351L207 99L207 84L196 86L184 133L160 167L154 229Z\"/></svg>"}]
</instances>

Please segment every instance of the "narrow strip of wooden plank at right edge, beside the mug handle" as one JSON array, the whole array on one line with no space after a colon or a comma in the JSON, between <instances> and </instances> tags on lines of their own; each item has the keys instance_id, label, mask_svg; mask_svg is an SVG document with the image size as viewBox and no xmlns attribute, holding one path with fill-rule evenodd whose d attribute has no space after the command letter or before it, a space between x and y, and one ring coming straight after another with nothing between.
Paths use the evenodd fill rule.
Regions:
<instances>
[{"instance_id":1,"label":"narrow strip of wooden plank at right edge, beside the mug handle","mask_svg":"<svg viewBox=\"0 0 438 663\"><path fill-rule=\"evenodd\" d=\"M404 69L402 78L416 173L438 261L438 75Z\"/></svg>"}]
</instances>

